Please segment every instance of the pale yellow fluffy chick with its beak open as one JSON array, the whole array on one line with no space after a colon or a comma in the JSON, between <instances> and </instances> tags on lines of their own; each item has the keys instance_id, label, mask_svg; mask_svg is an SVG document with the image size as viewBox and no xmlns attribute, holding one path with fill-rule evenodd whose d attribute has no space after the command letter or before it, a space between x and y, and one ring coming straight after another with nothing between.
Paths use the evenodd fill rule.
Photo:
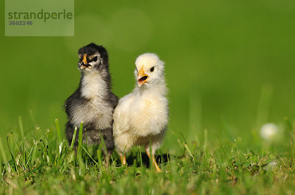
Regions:
<instances>
[{"instance_id":1,"label":"pale yellow fluffy chick with its beak open","mask_svg":"<svg viewBox=\"0 0 295 195\"><path fill-rule=\"evenodd\" d=\"M145 146L159 172L154 154L165 137L169 119L164 63L156 54L145 53L137 57L135 65L138 85L132 93L119 99L114 110L114 142L122 164L126 164L125 154L132 146Z\"/></svg>"}]
</instances>

